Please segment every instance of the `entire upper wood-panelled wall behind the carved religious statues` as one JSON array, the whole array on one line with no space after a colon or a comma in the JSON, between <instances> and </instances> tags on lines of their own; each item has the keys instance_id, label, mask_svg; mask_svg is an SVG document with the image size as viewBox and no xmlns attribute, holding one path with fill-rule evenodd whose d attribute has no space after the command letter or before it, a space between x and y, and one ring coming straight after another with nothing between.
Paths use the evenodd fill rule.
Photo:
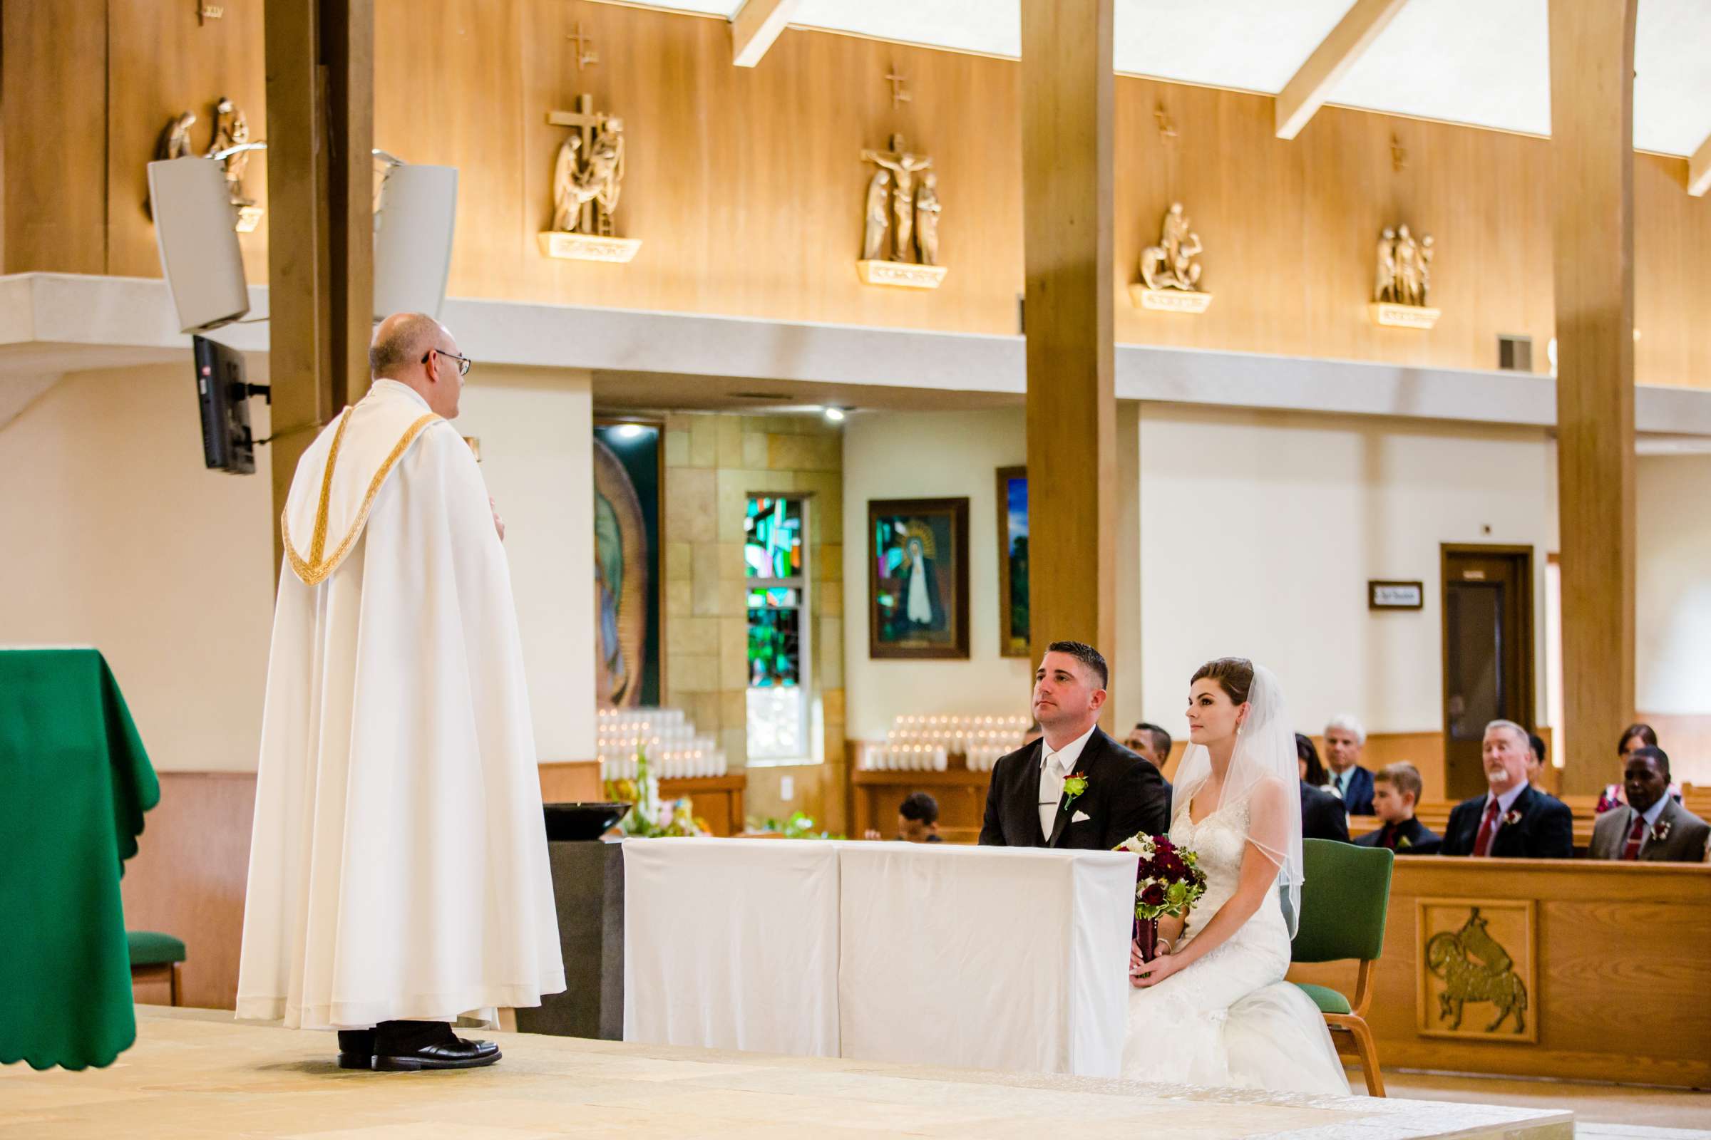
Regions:
<instances>
[{"instance_id":1,"label":"entire upper wood-panelled wall behind the carved religious statues","mask_svg":"<svg viewBox=\"0 0 1711 1140\"><path fill-rule=\"evenodd\" d=\"M65 5L53 21L39 19L43 5L5 7L5 263L159 275L144 164L171 113L205 116L221 94L265 135L260 7L228 3L221 21L197 27L188 3L113 0L103 38L104 5L75 3L89 19L60 19ZM565 41L577 22L601 56L582 72ZM110 111L94 94L108 39ZM595 0L378 0L375 39L376 145L460 169L455 296L1016 332L1021 108L1011 60L792 29L763 67L737 68L722 21ZM883 79L891 67L912 94L897 109ZM31 79L38 72L44 79ZM630 132L618 217L645 244L628 267L536 250L561 137L546 113L583 91ZM1174 138L1160 138L1160 108ZM867 176L859 152L891 130L932 154L941 174L950 275L934 292L856 280ZM205 132L204 120L198 147ZM1406 152L1401 171L1393 135ZM257 197L265 162L252 161ZM1711 340L1697 326L1711 303L1711 198L1689 198L1684 181L1685 161L1636 157L1636 373L1711 386ZM1206 243L1217 299L1196 318L1143 313L1119 296L1117 340L1485 369L1497 333L1525 333L1545 371L1548 193L1542 138L1324 108L1283 142L1264 96L1119 77L1114 284L1138 279L1141 248L1181 200ZM1429 333L1365 316L1377 229L1400 219L1439 248L1444 318ZM265 280L265 224L243 244L250 279Z\"/></svg>"}]
</instances>

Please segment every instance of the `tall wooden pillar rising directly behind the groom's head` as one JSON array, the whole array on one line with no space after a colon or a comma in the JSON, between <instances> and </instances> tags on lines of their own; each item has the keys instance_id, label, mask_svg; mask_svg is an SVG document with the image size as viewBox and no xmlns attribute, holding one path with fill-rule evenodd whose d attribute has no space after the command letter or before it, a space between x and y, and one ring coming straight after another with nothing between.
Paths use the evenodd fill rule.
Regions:
<instances>
[{"instance_id":1,"label":"tall wooden pillar rising directly behind the groom's head","mask_svg":"<svg viewBox=\"0 0 1711 1140\"><path fill-rule=\"evenodd\" d=\"M1110 62L1112 0L1021 2L1035 663L1061 639L1117 655Z\"/></svg>"}]
</instances>

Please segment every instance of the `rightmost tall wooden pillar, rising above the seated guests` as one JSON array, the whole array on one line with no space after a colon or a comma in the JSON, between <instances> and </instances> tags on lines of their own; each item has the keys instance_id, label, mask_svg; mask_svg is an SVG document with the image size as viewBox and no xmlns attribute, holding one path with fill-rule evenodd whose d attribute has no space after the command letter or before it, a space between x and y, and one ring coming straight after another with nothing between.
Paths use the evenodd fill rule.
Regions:
<instances>
[{"instance_id":1,"label":"rightmost tall wooden pillar, rising above the seated guests","mask_svg":"<svg viewBox=\"0 0 1711 1140\"><path fill-rule=\"evenodd\" d=\"M1562 790L1634 714L1634 9L1550 0Z\"/></svg>"}]
</instances>

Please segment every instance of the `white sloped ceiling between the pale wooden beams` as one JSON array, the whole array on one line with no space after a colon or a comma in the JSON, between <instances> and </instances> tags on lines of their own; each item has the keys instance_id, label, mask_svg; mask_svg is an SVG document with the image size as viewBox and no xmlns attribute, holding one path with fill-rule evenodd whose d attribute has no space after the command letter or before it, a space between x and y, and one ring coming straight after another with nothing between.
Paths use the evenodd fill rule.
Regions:
<instances>
[{"instance_id":1,"label":"white sloped ceiling between the pale wooden beams","mask_svg":"<svg viewBox=\"0 0 1711 1140\"><path fill-rule=\"evenodd\" d=\"M731 17L743 0L650 0ZM1352 0L1116 0L1116 67L1276 94ZM790 24L1016 56L1020 0L801 0ZM1711 0L1639 0L1634 145L1711 135ZM1410 0L1329 103L1550 133L1548 0Z\"/></svg>"}]
</instances>

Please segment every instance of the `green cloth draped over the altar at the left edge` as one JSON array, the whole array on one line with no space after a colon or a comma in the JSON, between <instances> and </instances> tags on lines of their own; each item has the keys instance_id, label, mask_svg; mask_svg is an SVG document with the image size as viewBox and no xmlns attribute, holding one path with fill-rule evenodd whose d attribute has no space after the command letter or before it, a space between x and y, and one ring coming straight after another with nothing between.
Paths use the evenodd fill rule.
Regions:
<instances>
[{"instance_id":1,"label":"green cloth draped over the altar at the left edge","mask_svg":"<svg viewBox=\"0 0 1711 1140\"><path fill-rule=\"evenodd\" d=\"M0 649L0 1063L137 1039L118 880L161 798L96 649Z\"/></svg>"}]
</instances>

